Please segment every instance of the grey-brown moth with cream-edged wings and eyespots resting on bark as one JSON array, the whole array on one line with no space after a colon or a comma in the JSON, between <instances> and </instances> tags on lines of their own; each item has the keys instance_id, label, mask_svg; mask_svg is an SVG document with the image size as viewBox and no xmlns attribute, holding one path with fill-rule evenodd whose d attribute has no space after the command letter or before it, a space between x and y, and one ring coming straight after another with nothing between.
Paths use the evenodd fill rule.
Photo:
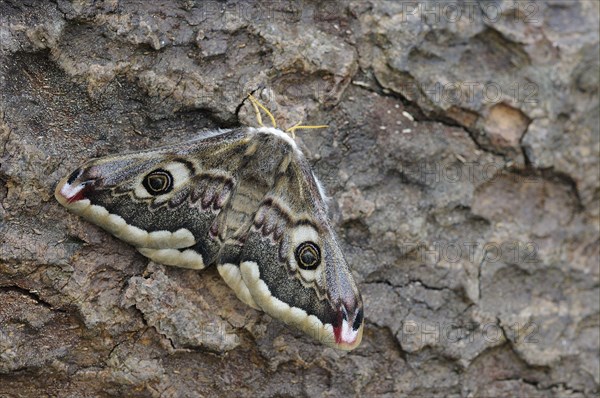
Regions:
<instances>
[{"instance_id":1,"label":"grey-brown moth with cream-edged wings and eyespots resting on bark","mask_svg":"<svg viewBox=\"0 0 600 398\"><path fill-rule=\"evenodd\" d=\"M71 212L165 265L216 266L247 305L351 350L363 304L300 148L273 127L92 159L57 185Z\"/></svg>"}]
</instances>

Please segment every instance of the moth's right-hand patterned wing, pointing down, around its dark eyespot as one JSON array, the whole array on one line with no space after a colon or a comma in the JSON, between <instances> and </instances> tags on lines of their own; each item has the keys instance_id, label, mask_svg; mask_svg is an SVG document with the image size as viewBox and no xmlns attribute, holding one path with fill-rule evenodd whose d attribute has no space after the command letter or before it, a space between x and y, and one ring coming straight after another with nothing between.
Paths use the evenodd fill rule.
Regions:
<instances>
[{"instance_id":1,"label":"moth's right-hand patterned wing, pointing down, around its dark eyespot","mask_svg":"<svg viewBox=\"0 0 600 398\"><path fill-rule=\"evenodd\" d=\"M276 160L263 171L272 183L241 253L219 270L248 304L327 345L352 349L362 336L362 299L328 221L324 194L295 144L277 139L274 146L261 151ZM312 269L298 263L304 244L320 252Z\"/></svg>"}]
</instances>

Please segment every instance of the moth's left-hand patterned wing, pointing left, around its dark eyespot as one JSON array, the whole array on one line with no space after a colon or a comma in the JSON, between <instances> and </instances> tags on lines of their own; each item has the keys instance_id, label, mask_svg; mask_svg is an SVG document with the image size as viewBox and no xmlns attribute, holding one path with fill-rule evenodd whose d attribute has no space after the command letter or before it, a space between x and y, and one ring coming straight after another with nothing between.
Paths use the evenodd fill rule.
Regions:
<instances>
[{"instance_id":1,"label":"moth's left-hand patterned wing, pointing left, around its dark eyespot","mask_svg":"<svg viewBox=\"0 0 600 398\"><path fill-rule=\"evenodd\" d=\"M73 212L167 265L204 268L221 243L218 216L230 200L250 139L244 129L209 132L186 143L92 159L59 182L56 197ZM164 170L169 192L143 180Z\"/></svg>"}]
</instances>

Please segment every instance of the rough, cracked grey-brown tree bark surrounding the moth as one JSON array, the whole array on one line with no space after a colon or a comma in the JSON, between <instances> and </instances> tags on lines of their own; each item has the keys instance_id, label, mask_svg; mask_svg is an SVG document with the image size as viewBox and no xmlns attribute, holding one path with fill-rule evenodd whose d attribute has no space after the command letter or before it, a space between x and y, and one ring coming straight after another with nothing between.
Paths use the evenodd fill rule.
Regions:
<instances>
[{"instance_id":1,"label":"rough, cracked grey-brown tree bark surrounding the moth","mask_svg":"<svg viewBox=\"0 0 600 398\"><path fill-rule=\"evenodd\" d=\"M0 0L0 396L599 391L599 3ZM90 157L255 124L360 285L345 353L69 214Z\"/></svg>"}]
</instances>

